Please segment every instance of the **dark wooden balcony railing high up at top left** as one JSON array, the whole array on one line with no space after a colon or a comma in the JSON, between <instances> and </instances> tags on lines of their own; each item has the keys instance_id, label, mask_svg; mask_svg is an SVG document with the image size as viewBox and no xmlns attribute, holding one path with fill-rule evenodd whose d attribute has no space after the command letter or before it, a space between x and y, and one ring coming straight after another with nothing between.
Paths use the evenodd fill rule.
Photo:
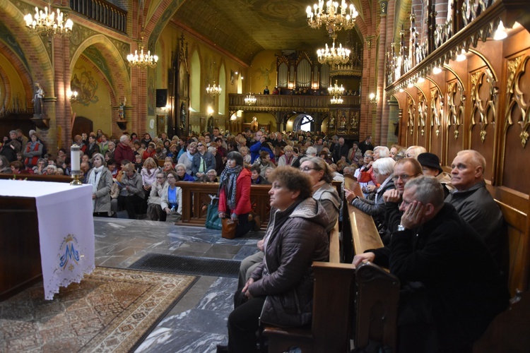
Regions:
<instances>
[{"instance_id":1,"label":"dark wooden balcony railing high up at top left","mask_svg":"<svg viewBox=\"0 0 530 353\"><path fill-rule=\"evenodd\" d=\"M119 32L127 31L127 11L105 0L70 0L73 11Z\"/></svg>"}]
</instances>

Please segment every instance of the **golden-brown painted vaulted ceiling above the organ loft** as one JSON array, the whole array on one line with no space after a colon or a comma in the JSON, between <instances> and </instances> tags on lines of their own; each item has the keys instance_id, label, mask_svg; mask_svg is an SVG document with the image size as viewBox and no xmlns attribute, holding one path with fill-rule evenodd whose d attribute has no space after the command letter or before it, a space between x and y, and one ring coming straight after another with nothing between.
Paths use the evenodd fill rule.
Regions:
<instances>
[{"instance_id":1,"label":"golden-brown painted vaulted ceiling above the organ loft","mask_svg":"<svg viewBox=\"0 0 530 353\"><path fill-rule=\"evenodd\" d=\"M326 42L331 44L325 27L314 30L307 25L306 8L314 2L317 1L187 0L179 6L173 20L249 64L264 49L313 51ZM361 13L358 1L353 4ZM346 37L348 33L339 33L338 41L346 42Z\"/></svg>"}]
</instances>

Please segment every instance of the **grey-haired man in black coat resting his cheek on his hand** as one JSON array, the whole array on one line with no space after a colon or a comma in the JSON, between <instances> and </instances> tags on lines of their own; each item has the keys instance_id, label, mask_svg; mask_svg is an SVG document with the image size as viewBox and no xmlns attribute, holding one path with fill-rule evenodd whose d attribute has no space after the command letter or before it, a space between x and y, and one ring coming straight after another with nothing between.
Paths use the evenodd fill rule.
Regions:
<instances>
[{"instance_id":1,"label":"grey-haired man in black coat resting his cheek on his hand","mask_svg":"<svg viewBox=\"0 0 530 353\"><path fill-rule=\"evenodd\" d=\"M510 294L483 240L444 203L437 179L405 185L404 212L389 246L355 256L399 277L399 352L459 352L477 340Z\"/></svg>"}]
</instances>

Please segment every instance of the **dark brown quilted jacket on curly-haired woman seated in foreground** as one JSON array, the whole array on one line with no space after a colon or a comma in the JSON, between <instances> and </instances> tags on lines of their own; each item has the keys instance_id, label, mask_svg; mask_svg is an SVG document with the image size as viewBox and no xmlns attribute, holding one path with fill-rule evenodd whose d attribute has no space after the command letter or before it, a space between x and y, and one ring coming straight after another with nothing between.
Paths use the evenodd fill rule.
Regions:
<instances>
[{"instance_id":1,"label":"dark brown quilted jacket on curly-haired woman seated in foreground","mask_svg":"<svg viewBox=\"0 0 530 353\"><path fill-rule=\"evenodd\" d=\"M277 211L263 262L254 270L249 292L267 296L261 321L280 326L311 322L313 261L329 260L326 211L314 198ZM270 229L269 229L270 230Z\"/></svg>"}]
</instances>

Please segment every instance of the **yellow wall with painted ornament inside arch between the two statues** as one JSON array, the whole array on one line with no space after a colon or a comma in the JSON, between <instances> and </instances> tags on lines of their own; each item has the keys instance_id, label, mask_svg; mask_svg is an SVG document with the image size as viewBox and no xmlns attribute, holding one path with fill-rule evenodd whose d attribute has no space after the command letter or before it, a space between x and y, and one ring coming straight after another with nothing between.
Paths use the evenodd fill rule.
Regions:
<instances>
[{"instance_id":1,"label":"yellow wall with painted ornament inside arch between the two statues","mask_svg":"<svg viewBox=\"0 0 530 353\"><path fill-rule=\"evenodd\" d=\"M86 79L87 73L91 78L90 81ZM95 89L93 99L90 102L86 102L85 104L81 102L73 102L71 104L72 112L75 113L76 116L84 116L87 119L92 120L94 132L100 128L104 133L110 133L112 114L117 114L117 110L113 110L110 106L110 94L107 90L107 85L105 85L103 80L93 71L93 69L87 68L86 63L83 61L78 61L73 69L72 79L74 77L81 80L83 87L85 87L87 92L91 92L94 87ZM97 101L95 100L96 97ZM129 105L129 102L127 102L127 105ZM126 110L126 114L128 113L129 110Z\"/></svg>"}]
</instances>

